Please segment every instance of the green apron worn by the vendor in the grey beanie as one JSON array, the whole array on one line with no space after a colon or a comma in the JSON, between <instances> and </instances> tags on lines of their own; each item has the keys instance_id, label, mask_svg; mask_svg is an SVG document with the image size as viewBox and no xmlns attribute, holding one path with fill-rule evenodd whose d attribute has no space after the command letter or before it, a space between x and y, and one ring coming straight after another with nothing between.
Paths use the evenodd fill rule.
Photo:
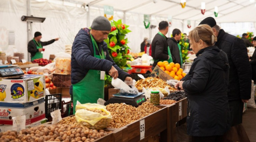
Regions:
<instances>
[{"instance_id":1,"label":"green apron worn by the vendor in the grey beanie","mask_svg":"<svg viewBox=\"0 0 256 142\"><path fill-rule=\"evenodd\" d=\"M105 59L103 48L101 53L98 49L96 41L90 35L93 43L94 56L98 59ZM96 48L100 55L96 55ZM100 79L100 70L90 69L86 76L78 83L72 84L73 86L73 114L76 112L76 102L84 103L97 103L99 98L104 99L104 84L105 81Z\"/></svg>"}]
</instances>

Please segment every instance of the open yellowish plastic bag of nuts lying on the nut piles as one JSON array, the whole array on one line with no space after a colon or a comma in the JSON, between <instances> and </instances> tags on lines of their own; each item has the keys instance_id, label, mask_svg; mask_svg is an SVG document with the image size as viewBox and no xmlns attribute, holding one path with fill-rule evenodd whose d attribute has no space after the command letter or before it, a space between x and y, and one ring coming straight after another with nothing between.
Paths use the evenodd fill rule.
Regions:
<instances>
[{"instance_id":1,"label":"open yellowish plastic bag of nuts lying on the nut piles","mask_svg":"<svg viewBox=\"0 0 256 142\"><path fill-rule=\"evenodd\" d=\"M97 103L85 103L76 105L76 120L88 128L97 130L104 129L109 126L112 116L106 106Z\"/></svg>"}]
</instances>

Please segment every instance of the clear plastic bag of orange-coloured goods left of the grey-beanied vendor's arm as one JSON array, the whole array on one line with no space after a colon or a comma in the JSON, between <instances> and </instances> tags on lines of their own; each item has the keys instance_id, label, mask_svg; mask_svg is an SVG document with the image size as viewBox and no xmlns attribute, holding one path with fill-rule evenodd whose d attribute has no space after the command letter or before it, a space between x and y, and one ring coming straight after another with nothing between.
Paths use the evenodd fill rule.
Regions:
<instances>
[{"instance_id":1,"label":"clear plastic bag of orange-coloured goods left of the grey-beanied vendor's arm","mask_svg":"<svg viewBox=\"0 0 256 142\"><path fill-rule=\"evenodd\" d=\"M71 74L71 55L68 53L55 54L55 73Z\"/></svg>"}]
</instances>

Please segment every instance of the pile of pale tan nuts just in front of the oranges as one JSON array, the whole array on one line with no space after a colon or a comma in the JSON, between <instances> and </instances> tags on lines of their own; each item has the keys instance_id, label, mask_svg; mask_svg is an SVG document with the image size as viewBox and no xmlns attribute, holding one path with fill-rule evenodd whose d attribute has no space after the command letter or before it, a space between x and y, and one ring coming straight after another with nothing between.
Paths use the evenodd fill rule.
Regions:
<instances>
[{"instance_id":1,"label":"pile of pale tan nuts just in front of the oranges","mask_svg":"<svg viewBox=\"0 0 256 142\"><path fill-rule=\"evenodd\" d=\"M147 89L147 88L151 88L151 87L165 88L166 86L168 86L170 91L177 90L159 78L148 77L148 78L145 78L145 80L141 79L135 83L135 87L137 87L138 90L142 90L143 87Z\"/></svg>"}]
</instances>

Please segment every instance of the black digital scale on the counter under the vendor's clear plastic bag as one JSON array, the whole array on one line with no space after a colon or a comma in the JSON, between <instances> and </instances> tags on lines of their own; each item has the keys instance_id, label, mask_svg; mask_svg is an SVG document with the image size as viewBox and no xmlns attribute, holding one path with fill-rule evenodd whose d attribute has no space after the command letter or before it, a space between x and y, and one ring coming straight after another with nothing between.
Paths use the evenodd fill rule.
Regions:
<instances>
[{"instance_id":1,"label":"black digital scale on the counter under the vendor's clear plastic bag","mask_svg":"<svg viewBox=\"0 0 256 142\"><path fill-rule=\"evenodd\" d=\"M142 94L144 93L138 93L137 95L117 93L113 95L114 97L106 101L104 105L106 106L110 103L125 103L126 105L138 107L147 101L146 97Z\"/></svg>"}]
</instances>

